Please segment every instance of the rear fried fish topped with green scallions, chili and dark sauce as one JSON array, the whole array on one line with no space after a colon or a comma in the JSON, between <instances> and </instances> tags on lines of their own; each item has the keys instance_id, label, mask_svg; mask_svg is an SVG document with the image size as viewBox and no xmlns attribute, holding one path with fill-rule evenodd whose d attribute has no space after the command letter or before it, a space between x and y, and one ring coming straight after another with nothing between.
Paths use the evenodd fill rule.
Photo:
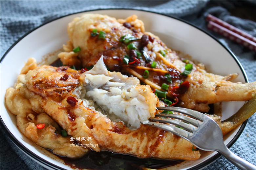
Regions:
<instances>
[{"instance_id":1,"label":"rear fried fish topped with green scallions, chili and dark sauce","mask_svg":"<svg viewBox=\"0 0 256 170\"><path fill-rule=\"evenodd\" d=\"M63 45L65 52L58 57L66 65L88 67L95 65L103 55L110 70L136 76L152 89L165 91L161 88L165 83L169 85L166 90L169 99L173 103L179 101L176 106L198 111L207 112L211 103L249 100L256 92L256 82L233 83L230 81L236 74L219 76L207 73L202 64L183 61L157 36L144 30L143 22L136 15L116 20L107 15L84 14L69 23L70 40ZM102 31L105 38L99 35ZM74 53L76 47L81 50ZM156 68L151 68L153 62L156 62ZM186 68L186 64L192 67ZM143 77L145 70L149 72L147 78ZM171 82L167 81L166 74ZM189 88L176 95L174 89L185 81L189 81Z\"/></svg>"}]
</instances>

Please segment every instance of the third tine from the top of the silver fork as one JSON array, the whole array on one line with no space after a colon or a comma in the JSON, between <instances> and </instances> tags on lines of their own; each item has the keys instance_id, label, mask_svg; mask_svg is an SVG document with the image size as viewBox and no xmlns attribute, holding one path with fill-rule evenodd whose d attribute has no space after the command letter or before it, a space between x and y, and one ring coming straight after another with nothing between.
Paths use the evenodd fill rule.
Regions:
<instances>
[{"instance_id":1,"label":"third tine from the top of the silver fork","mask_svg":"<svg viewBox=\"0 0 256 170\"><path fill-rule=\"evenodd\" d=\"M189 131L189 132L193 132L195 130L195 127L192 125L189 125L187 123L178 121L178 120L174 120L174 119L162 119L162 118L150 118L149 120L153 120L153 121L157 121L157 122L163 122L163 123L169 123L172 125L176 125L176 126L180 126L183 127L185 130Z\"/></svg>"}]
</instances>

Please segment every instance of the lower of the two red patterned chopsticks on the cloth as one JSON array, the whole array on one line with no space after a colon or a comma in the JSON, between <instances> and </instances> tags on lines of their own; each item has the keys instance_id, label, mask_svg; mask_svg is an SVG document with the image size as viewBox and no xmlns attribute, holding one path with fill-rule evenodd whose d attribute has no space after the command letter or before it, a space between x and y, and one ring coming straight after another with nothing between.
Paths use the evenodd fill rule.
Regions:
<instances>
[{"instance_id":1,"label":"lower of the two red patterned chopsticks on the cloth","mask_svg":"<svg viewBox=\"0 0 256 170\"><path fill-rule=\"evenodd\" d=\"M245 37L238 35L237 33L230 31L229 29L227 29L221 25L218 25L212 21L209 21L207 28L229 38L232 41L242 44L251 50L256 51L256 43L255 42L250 41L250 40L246 39Z\"/></svg>"}]
</instances>

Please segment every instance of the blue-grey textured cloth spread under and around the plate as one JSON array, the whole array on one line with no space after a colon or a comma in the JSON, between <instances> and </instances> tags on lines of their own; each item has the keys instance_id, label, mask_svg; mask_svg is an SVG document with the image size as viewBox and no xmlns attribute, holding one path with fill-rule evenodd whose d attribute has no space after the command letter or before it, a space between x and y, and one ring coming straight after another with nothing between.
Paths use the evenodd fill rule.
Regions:
<instances>
[{"instance_id":1,"label":"blue-grey textured cloth spread under and around the plate","mask_svg":"<svg viewBox=\"0 0 256 170\"><path fill-rule=\"evenodd\" d=\"M255 1L248 1L246 3L224 1L218 2L218 7L216 7L216 2L207 1L1 1L1 57L26 32L57 17L93 9L143 9L180 17L214 35L237 56L245 69L249 81L252 82L256 81L255 52L247 50L241 45L235 44L221 35L207 30L204 21L204 17L208 13L211 13L256 36L255 22L230 16L227 11L227 9L235 8L235 5L248 4L256 7ZM253 115L249 118L240 138L230 148L236 155L253 164L256 164L255 134L256 115ZM45 168L27 157L13 144L3 129L1 129L1 169L44 170ZM205 168L205 170L237 169L223 157L220 157L217 161Z\"/></svg>"}]
</instances>

